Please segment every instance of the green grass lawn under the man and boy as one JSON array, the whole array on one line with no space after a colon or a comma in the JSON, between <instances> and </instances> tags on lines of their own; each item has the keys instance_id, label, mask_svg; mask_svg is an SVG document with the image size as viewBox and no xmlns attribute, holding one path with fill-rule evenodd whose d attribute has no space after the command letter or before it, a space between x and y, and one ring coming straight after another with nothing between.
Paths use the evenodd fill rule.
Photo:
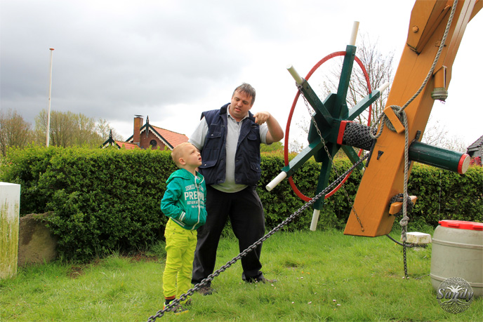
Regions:
<instances>
[{"instance_id":1,"label":"green grass lawn under the man and boy","mask_svg":"<svg viewBox=\"0 0 483 322\"><path fill-rule=\"evenodd\" d=\"M238 253L234 239L223 239L216 267ZM481 297L461 314L439 307L431 246L407 249L409 279L402 247L385 236L279 232L263 244L262 262L277 283L242 282L237 262L213 281L217 293L194 294L190 311L157 321L483 320ZM22 267L0 281L0 321L147 321L162 309L163 269L164 257L152 253Z\"/></svg>"}]
</instances>

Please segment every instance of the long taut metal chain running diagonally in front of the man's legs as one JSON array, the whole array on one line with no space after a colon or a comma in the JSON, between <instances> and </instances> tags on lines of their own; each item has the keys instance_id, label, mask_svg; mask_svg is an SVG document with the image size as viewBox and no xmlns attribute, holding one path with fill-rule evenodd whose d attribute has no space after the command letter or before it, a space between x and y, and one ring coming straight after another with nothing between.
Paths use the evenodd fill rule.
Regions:
<instances>
[{"instance_id":1,"label":"long taut metal chain running diagonally in front of the man's legs","mask_svg":"<svg viewBox=\"0 0 483 322\"><path fill-rule=\"evenodd\" d=\"M200 283L198 283L197 285L195 285L193 288L191 288L190 290L188 290L187 293L181 295L178 299L171 301L166 307L164 307L164 309L161 309L161 310L157 311L157 313L154 316L150 316L150 318L147 319L147 322L154 322L154 321L156 321L157 318L160 318L161 316L164 315L164 312L171 310L171 308L177 306L180 302L183 302L184 300L186 300L188 296L192 295L195 291L199 290L200 288L202 288L203 286L205 286L210 281L213 281L213 279L216 276L218 276L221 273L223 273L223 271L225 271L227 268L229 268L230 266L232 266L232 264L234 264L238 260L241 260L242 257L245 257L246 254L248 254L249 252L251 252L251 250L257 248L261 243L263 243L263 241L266 241L267 239L269 239L270 236L272 236L273 234L275 234L276 232L278 232L280 229L282 229L284 226L286 226L286 224L289 224L290 222L292 222L293 220L295 220L297 217L299 217L303 213L303 210L305 210L305 209L309 208L310 206L312 206L312 204L315 203L315 201L317 201L318 199L320 199L322 196L324 196L329 191L329 189L332 189L333 187L335 187L336 185L338 185L340 182L342 182L342 180L345 177L345 175L348 175L348 173L350 173L350 171L354 170L355 167L359 166L359 163L362 163L362 161L364 161L365 159L367 159L368 156L369 156L369 154L364 155L364 157L362 159L360 159L359 161L357 161L356 163L354 163L354 165L349 170L345 171L345 173L343 173L343 175L341 175L340 177L338 177L329 186L327 186L322 192L319 192L319 194L317 194L316 196L314 196L310 201L308 201L302 207L300 207L298 210L296 210L295 213L291 214L289 217L286 217L286 219L283 222L281 222L280 224L278 224L277 227L274 227L274 229L272 229L270 232L268 232L267 234L265 234L265 236L263 236L262 238L258 239L258 241L256 241L255 243L253 243L253 245L251 245L249 248L246 248L246 250L244 250L241 253L239 253L236 257L233 257L232 260L230 260L225 265L223 265L222 267L220 267L220 269L218 269L217 271L213 272L213 274L209 275L206 279L202 280Z\"/></svg>"}]
</instances>

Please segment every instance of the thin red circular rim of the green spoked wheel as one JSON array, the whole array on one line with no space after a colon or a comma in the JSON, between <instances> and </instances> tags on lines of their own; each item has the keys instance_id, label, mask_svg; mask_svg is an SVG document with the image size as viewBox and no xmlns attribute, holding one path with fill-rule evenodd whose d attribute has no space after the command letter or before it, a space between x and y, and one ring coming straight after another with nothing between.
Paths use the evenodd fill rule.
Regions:
<instances>
[{"instance_id":1,"label":"thin red circular rim of the green spoked wheel","mask_svg":"<svg viewBox=\"0 0 483 322\"><path fill-rule=\"evenodd\" d=\"M317 64L312 67L312 69L310 69L310 72L308 72L307 76L305 76L305 80L308 81L308 79L310 79L310 76L312 76L312 74L314 74L314 72L320 67L322 66L322 64L324 64L324 62L326 62L327 60L330 60L331 58L335 58L335 57L338 57L338 56L343 56L345 55L345 51L336 51L335 53L331 53L330 55L326 55L324 58L322 58L322 60L319 60L319 62L317 62ZM371 82L369 81L369 74L367 74L367 71L366 71L366 68L364 67L364 65L362 64L361 60L359 60L359 58L357 58L357 56L355 56L355 61L357 62L357 65L359 65L359 67L361 67L362 69L362 72L364 73L364 77L366 78L366 83L367 83L367 88L369 88L369 94L372 93L372 89L371 89ZM291 124L291 121L292 121L292 116L293 116L293 111L295 110L295 107L297 105L297 101L298 101L298 97L300 96L300 91L298 90L297 91L297 94L295 95L295 98L293 99L293 103L292 103L292 107L290 109L290 113L289 113L289 119L287 119L287 123L286 123L286 128L285 128L285 141L284 141L284 161L285 161L285 166L288 166L289 165L289 133L290 133L290 124ZM371 112L372 112L372 105L369 106L369 116L367 118L367 126L371 125ZM362 149L359 149L359 153L357 154L358 156L361 156L362 154ZM352 171L350 173L348 173L348 175L346 175L344 177L344 179L342 180L342 182L340 182L340 184L338 184L337 187L335 187L331 192L329 192L329 194L326 194L325 195L325 199L329 198L330 196L332 196L333 194L335 194L337 192L338 189L340 189L340 187L342 187L342 185L344 184L344 182L346 180L348 180L348 177L350 176L350 174L352 173ZM300 192L300 190L298 190L297 186L295 185L295 182L293 182L293 178L292 177L289 177L289 183L290 183L290 186L292 187L293 189L293 192L296 193L296 195L302 199L303 201L310 201L312 200L312 198L309 198L307 196L305 196L305 194L303 194L302 192Z\"/></svg>"}]
</instances>

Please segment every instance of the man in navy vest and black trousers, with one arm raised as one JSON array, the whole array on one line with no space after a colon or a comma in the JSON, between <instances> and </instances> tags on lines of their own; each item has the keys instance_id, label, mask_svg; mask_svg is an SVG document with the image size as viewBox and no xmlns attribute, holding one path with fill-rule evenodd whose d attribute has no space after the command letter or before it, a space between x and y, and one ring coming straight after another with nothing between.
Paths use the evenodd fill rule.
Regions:
<instances>
[{"instance_id":1,"label":"man in navy vest and black trousers, with one arm raised","mask_svg":"<svg viewBox=\"0 0 483 322\"><path fill-rule=\"evenodd\" d=\"M255 89L247 83L235 88L230 103L203 112L201 122L190 137L201 152L200 173L206 180L206 224L198 229L192 283L200 283L213 273L220 236L230 217L240 252L265 234L265 215L256 185L260 180L260 143L271 144L284 131L269 112L250 112ZM241 259L241 279L248 283L265 279L260 263L262 246ZM199 290L213 293L211 283Z\"/></svg>"}]
</instances>

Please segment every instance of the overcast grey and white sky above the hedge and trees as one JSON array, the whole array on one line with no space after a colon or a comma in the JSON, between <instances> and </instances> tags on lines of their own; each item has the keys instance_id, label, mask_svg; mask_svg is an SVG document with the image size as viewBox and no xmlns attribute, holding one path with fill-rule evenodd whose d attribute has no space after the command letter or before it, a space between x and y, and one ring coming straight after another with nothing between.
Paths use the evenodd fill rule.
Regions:
<instances>
[{"instance_id":1,"label":"overcast grey and white sky above the hedge and trees","mask_svg":"<svg viewBox=\"0 0 483 322\"><path fill-rule=\"evenodd\" d=\"M257 90L252 112L285 128L296 94L286 71L305 76L344 51L352 23L398 62L414 1L399 0L1 0L1 109L34 125L51 109L106 119L132 135L135 114L191 135L201 112L230 101L242 82ZM483 135L483 13L466 29L445 104L432 121L468 145ZM313 85L312 85L313 87Z\"/></svg>"}]
</instances>

